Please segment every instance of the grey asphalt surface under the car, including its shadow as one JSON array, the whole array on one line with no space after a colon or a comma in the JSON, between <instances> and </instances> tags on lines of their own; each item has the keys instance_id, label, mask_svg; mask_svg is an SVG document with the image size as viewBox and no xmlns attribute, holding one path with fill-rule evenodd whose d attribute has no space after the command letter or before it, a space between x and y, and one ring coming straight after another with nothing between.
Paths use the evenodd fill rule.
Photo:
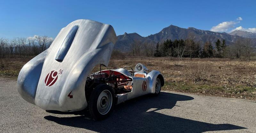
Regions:
<instances>
[{"instance_id":1,"label":"grey asphalt surface under the car, including its shadow","mask_svg":"<svg viewBox=\"0 0 256 133\"><path fill-rule=\"evenodd\" d=\"M86 110L46 112L24 101L16 84L0 78L0 132L256 132L256 101L161 92L119 104L96 122Z\"/></svg>"}]
</instances>

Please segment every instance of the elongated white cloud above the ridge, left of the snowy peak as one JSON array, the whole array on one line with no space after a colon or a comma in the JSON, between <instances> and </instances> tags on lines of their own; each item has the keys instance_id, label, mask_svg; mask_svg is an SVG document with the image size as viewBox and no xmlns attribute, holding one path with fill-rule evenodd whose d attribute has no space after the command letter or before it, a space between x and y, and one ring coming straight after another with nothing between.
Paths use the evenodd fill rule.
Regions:
<instances>
[{"instance_id":1,"label":"elongated white cloud above the ridge, left of the snowy peak","mask_svg":"<svg viewBox=\"0 0 256 133\"><path fill-rule=\"evenodd\" d=\"M240 23L240 21L226 21L226 22L222 22L216 26L213 26L211 31L212 32L226 32L228 31L229 28L234 27L235 24Z\"/></svg>"}]
</instances>

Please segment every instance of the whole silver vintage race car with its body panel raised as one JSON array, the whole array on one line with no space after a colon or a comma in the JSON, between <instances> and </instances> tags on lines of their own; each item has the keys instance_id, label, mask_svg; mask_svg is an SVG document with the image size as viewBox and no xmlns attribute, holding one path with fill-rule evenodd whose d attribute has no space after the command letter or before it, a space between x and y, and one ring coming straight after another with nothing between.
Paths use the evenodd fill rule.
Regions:
<instances>
[{"instance_id":1,"label":"whole silver vintage race car with its body panel raised","mask_svg":"<svg viewBox=\"0 0 256 133\"><path fill-rule=\"evenodd\" d=\"M108 66L117 37L113 27L76 20L62 28L52 45L25 64L18 77L22 98L44 110L63 112L89 108L95 120L106 118L113 105L160 93L164 77L137 64L115 70ZM92 69L100 65L100 71Z\"/></svg>"}]
</instances>

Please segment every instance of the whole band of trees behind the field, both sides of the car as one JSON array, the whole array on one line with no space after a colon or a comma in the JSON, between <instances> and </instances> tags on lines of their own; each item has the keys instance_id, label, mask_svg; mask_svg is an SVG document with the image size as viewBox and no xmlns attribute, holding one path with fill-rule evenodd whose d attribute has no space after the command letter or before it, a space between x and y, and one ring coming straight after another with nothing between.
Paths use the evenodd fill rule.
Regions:
<instances>
[{"instance_id":1,"label":"whole band of trees behind the field, both sides of the car","mask_svg":"<svg viewBox=\"0 0 256 133\"><path fill-rule=\"evenodd\" d=\"M162 43L142 43L140 40L134 40L131 44L130 56L148 56L148 57L177 57L182 60L184 57L192 58L223 58L223 57L245 57L250 61L255 56L255 47L249 38L238 39L235 45L228 46L225 40L217 39L215 44L207 41L202 44L195 42L193 35L188 39L170 40ZM42 53L52 44L52 39L47 36L35 36L33 38L0 38L0 58L16 56L35 56ZM214 47L214 48L213 48ZM113 54L120 54L114 50ZM128 52L127 52L128 53ZM124 55L124 54L123 54Z\"/></svg>"}]
</instances>

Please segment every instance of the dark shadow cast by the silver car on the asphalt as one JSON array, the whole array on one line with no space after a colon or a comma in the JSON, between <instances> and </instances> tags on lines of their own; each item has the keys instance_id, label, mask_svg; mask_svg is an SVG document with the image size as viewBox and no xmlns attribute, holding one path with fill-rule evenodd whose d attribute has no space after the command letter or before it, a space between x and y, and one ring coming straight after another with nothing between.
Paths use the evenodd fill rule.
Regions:
<instances>
[{"instance_id":1,"label":"dark shadow cast by the silver car on the asphalt","mask_svg":"<svg viewBox=\"0 0 256 133\"><path fill-rule=\"evenodd\" d=\"M177 101L193 99L193 97L186 95L161 92L158 97L146 95L119 104L116 106L114 113L103 121L91 120L89 112L86 111L83 114L81 114L81 111L73 112L73 114L79 115L74 117L48 115L44 118L61 125L96 132L205 132L246 129L232 124L211 124L164 115L157 111L171 109Z\"/></svg>"}]
</instances>

